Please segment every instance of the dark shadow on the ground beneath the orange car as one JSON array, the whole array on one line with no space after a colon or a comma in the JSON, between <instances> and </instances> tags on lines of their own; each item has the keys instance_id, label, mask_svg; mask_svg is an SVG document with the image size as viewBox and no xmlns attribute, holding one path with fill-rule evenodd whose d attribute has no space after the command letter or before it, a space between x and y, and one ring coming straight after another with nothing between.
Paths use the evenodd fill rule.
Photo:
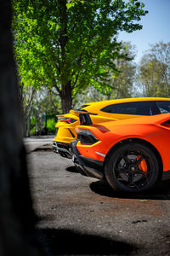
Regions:
<instances>
[{"instance_id":1,"label":"dark shadow on the ground beneath the orange car","mask_svg":"<svg viewBox=\"0 0 170 256\"><path fill-rule=\"evenodd\" d=\"M129 199L150 199L150 200L170 200L170 180L162 181L161 184L154 189L145 192L129 194L116 192L105 181L97 181L90 183L90 189L99 195L116 197L116 198L129 198Z\"/></svg>"}]
</instances>

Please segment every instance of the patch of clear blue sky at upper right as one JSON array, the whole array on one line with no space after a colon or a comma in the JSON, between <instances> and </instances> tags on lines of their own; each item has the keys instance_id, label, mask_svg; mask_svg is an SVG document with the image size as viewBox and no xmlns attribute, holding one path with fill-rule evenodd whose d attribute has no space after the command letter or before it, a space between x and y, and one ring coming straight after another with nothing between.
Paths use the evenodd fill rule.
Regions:
<instances>
[{"instance_id":1,"label":"patch of clear blue sky at upper right","mask_svg":"<svg viewBox=\"0 0 170 256\"><path fill-rule=\"evenodd\" d=\"M170 0L140 0L139 2L143 2L144 9L149 11L139 21L143 26L142 30L132 33L120 32L118 37L136 46L137 55L134 59L136 62L140 61L144 51L150 49L150 44L161 41L170 42Z\"/></svg>"}]
</instances>

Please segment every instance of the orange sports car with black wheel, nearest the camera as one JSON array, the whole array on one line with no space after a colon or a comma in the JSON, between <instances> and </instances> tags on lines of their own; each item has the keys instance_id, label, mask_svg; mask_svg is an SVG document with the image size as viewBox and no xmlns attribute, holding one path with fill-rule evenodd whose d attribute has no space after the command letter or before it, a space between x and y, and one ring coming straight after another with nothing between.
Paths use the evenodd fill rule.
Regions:
<instances>
[{"instance_id":1,"label":"orange sports car with black wheel, nearest the camera","mask_svg":"<svg viewBox=\"0 0 170 256\"><path fill-rule=\"evenodd\" d=\"M117 191L150 189L170 170L170 113L93 125L79 113L73 160L86 176L105 179Z\"/></svg>"}]
</instances>

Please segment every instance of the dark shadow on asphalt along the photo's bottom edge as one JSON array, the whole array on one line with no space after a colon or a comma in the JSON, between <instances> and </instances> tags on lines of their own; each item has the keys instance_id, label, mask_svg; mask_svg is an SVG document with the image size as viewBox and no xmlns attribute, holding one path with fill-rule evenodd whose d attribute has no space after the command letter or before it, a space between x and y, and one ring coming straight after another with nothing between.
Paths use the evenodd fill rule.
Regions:
<instances>
[{"instance_id":1,"label":"dark shadow on asphalt along the photo's bottom edge","mask_svg":"<svg viewBox=\"0 0 170 256\"><path fill-rule=\"evenodd\" d=\"M102 236L85 235L73 230L37 230L47 255L128 255L136 247Z\"/></svg>"}]
</instances>

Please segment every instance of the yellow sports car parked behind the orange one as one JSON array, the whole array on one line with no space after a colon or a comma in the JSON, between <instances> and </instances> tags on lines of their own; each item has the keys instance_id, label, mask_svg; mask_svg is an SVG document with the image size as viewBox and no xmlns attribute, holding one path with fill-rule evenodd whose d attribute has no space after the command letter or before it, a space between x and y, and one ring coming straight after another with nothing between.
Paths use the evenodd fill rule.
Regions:
<instances>
[{"instance_id":1,"label":"yellow sports car parked behind the orange one","mask_svg":"<svg viewBox=\"0 0 170 256\"><path fill-rule=\"evenodd\" d=\"M90 102L79 110L88 112L93 124L104 123L120 119L132 119L139 116L150 116L170 112L168 98L128 98L103 102ZM54 152L71 158L71 145L77 139L76 126L80 125L79 113L71 110L58 116L56 136L54 137ZM86 125L82 120L81 125Z\"/></svg>"}]
</instances>

